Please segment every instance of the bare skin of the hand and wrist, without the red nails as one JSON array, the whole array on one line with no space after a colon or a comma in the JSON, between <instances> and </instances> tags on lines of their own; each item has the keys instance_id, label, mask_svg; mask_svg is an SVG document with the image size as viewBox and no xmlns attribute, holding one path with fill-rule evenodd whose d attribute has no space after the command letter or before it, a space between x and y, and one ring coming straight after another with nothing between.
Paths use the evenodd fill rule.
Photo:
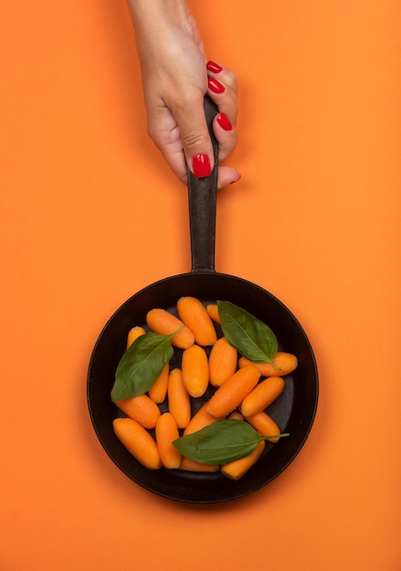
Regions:
<instances>
[{"instance_id":1,"label":"bare skin of the hand and wrist, without the red nails","mask_svg":"<svg viewBox=\"0 0 401 571\"><path fill-rule=\"evenodd\" d=\"M206 154L213 164L203 109L206 93L233 126L232 130L224 130L214 121L218 161L225 161L237 145L237 78L221 64L223 69L218 73L207 70L202 39L185 0L128 3L141 62L148 133L175 175L186 182L186 165L194 171L195 155ZM225 88L223 93L208 88L209 77L218 79ZM238 171L221 166L218 187L239 178Z\"/></svg>"}]
</instances>

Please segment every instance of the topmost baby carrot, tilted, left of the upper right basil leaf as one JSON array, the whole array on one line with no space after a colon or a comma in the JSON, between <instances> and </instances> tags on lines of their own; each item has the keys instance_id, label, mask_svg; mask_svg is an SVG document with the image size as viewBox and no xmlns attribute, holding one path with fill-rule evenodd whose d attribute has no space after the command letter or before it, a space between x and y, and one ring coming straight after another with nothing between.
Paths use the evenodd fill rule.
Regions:
<instances>
[{"instance_id":1,"label":"topmost baby carrot, tilted, left of the upper right basil leaf","mask_svg":"<svg viewBox=\"0 0 401 571\"><path fill-rule=\"evenodd\" d=\"M198 345L213 345L217 334L213 321L206 311L206 307L196 297L180 297L177 301L178 315L195 335Z\"/></svg>"}]
</instances>

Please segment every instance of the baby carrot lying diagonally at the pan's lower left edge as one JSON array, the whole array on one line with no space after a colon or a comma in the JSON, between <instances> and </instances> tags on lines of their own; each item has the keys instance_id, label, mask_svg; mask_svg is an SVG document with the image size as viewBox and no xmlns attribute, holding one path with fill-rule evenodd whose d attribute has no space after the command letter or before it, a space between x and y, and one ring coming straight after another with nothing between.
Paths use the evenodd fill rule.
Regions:
<instances>
[{"instance_id":1,"label":"baby carrot lying diagonally at the pan's lower left edge","mask_svg":"<svg viewBox=\"0 0 401 571\"><path fill-rule=\"evenodd\" d=\"M136 420L124 418L113 420L112 427L117 438L138 462L149 470L162 467L157 444L141 424Z\"/></svg>"}]
</instances>

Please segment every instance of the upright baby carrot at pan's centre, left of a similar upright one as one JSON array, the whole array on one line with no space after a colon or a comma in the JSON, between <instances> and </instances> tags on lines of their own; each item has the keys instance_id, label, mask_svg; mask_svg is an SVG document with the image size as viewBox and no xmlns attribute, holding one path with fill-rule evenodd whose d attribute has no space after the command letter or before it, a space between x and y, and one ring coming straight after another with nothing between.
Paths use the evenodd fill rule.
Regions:
<instances>
[{"instance_id":1,"label":"upright baby carrot at pan's centre, left of a similar upright one","mask_svg":"<svg viewBox=\"0 0 401 571\"><path fill-rule=\"evenodd\" d=\"M193 345L183 351L181 361L183 381L191 397L202 397L209 383L209 366L206 350L199 345Z\"/></svg>"}]
</instances>

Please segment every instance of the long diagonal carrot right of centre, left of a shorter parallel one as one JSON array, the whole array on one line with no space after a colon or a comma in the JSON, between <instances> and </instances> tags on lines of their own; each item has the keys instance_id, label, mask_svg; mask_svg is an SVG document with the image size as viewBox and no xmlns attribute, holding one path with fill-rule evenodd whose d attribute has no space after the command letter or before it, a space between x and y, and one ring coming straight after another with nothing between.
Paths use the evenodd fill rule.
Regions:
<instances>
[{"instance_id":1,"label":"long diagonal carrot right of centre, left of a shorter parallel one","mask_svg":"<svg viewBox=\"0 0 401 571\"><path fill-rule=\"evenodd\" d=\"M259 370L253 365L237 370L208 401L207 412L216 419L223 419L232 410L237 409L248 393L256 387L259 378Z\"/></svg>"}]
</instances>

